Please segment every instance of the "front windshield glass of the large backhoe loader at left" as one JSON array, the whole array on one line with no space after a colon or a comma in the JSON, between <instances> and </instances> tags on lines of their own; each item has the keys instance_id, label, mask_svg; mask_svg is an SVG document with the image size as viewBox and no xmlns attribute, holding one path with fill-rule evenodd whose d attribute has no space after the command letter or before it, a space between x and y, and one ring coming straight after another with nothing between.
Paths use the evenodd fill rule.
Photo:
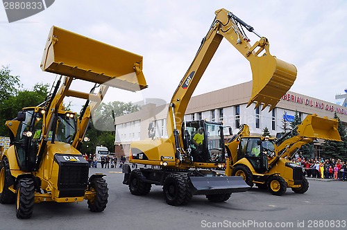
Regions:
<instances>
[{"instance_id":1,"label":"front windshield glass of the large backhoe loader at left","mask_svg":"<svg viewBox=\"0 0 347 230\"><path fill-rule=\"evenodd\" d=\"M56 141L71 143L76 134L76 121L74 117L58 114Z\"/></svg>"}]
</instances>

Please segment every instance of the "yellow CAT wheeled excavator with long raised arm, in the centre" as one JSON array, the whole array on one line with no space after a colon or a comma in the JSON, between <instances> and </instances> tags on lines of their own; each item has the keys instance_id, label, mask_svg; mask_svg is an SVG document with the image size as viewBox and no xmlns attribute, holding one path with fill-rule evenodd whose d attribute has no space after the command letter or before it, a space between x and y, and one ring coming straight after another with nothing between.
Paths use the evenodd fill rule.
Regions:
<instances>
[{"instance_id":1,"label":"yellow CAT wheeled excavator with long raised arm, in the centre","mask_svg":"<svg viewBox=\"0 0 347 230\"><path fill-rule=\"evenodd\" d=\"M256 102L256 106L263 103L264 107L275 107L293 85L296 67L271 55L266 37L259 36L260 40L251 45L243 27L255 33L253 27L232 12L221 9L215 15L192 64L169 103L166 120L169 138L130 143L130 163L160 166L159 169L135 170L131 170L128 165L124 166L123 183L129 186L133 195L146 195L151 191L152 184L160 185L163 186L167 204L176 206L187 204L192 195L206 195L211 202L224 202L231 193L244 192L249 188L242 177L227 177L212 170L222 168L226 163L223 125L207 121L185 121L187 105L223 37L251 63L253 90L248 105ZM226 73L228 75L230 78L238 77ZM152 128L153 124L150 123L149 130Z\"/></svg>"}]
</instances>

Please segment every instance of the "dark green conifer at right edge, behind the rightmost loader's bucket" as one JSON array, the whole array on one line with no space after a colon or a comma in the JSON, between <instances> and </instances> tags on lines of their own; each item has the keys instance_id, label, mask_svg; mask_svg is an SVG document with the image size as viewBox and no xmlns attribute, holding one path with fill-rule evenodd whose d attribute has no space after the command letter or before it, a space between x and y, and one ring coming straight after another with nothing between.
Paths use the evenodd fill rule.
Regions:
<instances>
[{"instance_id":1,"label":"dark green conifer at right edge, behind the rightmost loader's bucket","mask_svg":"<svg viewBox=\"0 0 347 230\"><path fill-rule=\"evenodd\" d=\"M335 112L334 118L339 121L339 127L337 130L341 136L342 141L324 141L323 150L326 157L333 157L347 160L347 132L339 116Z\"/></svg>"}]
</instances>

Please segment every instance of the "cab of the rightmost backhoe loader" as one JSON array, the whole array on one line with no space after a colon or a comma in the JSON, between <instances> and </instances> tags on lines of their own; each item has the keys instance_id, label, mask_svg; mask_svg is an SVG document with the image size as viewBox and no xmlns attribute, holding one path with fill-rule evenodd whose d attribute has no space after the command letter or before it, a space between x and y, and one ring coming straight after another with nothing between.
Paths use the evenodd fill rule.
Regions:
<instances>
[{"instance_id":1,"label":"cab of the rightmost backhoe loader","mask_svg":"<svg viewBox=\"0 0 347 230\"><path fill-rule=\"evenodd\" d=\"M273 141L266 137L244 137L239 143L237 160L248 159L256 172L268 170L267 157L275 150Z\"/></svg>"}]
</instances>

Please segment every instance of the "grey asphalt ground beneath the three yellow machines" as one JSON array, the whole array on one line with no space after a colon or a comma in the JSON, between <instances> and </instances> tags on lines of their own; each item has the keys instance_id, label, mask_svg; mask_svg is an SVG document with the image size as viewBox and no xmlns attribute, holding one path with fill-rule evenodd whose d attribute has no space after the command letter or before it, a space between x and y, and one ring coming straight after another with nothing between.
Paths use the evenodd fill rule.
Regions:
<instances>
[{"instance_id":1,"label":"grey asphalt ground beneath the three yellow machines","mask_svg":"<svg viewBox=\"0 0 347 230\"><path fill-rule=\"evenodd\" d=\"M347 182L310 180L305 194L287 190L277 197L252 188L233 193L227 202L194 196L186 206L169 206L161 186L146 196L131 195L121 169L92 168L108 182L108 206L92 213L87 202L35 204L33 216L19 220L14 204L0 204L2 229L346 229ZM332 227L334 226L334 227ZM337 227L339 226L339 227ZM343 228L344 227L344 228Z\"/></svg>"}]
</instances>

